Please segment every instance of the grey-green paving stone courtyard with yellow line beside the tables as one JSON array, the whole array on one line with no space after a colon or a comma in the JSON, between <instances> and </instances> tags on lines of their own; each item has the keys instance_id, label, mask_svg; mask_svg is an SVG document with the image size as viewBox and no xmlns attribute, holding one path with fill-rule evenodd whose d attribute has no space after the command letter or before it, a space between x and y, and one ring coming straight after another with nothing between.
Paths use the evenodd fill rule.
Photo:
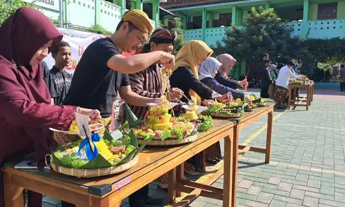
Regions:
<instances>
[{"instance_id":1,"label":"grey-green paving stone courtyard with yellow line beside the tables","mask_svg":"<svg viewBox=\"0 0 345 207\"><path fill-rule=\"evenodd\" d=\"M303 92L303 91L302 91ZM345 92L318 90L308 111L276 110L270 164L264 155L247 152L239 161L237 206L345 207ZM266 145L266 117L242 130L240 143ZM213 184L222 187L222 177ZM150 195L166 201L166 193L150 185ZM59 201L43 198L43 207ZM221 206L222 201L197 198L190 206ZM127 199L123 206L128 207Z\"/></svg>"}]
</instances>

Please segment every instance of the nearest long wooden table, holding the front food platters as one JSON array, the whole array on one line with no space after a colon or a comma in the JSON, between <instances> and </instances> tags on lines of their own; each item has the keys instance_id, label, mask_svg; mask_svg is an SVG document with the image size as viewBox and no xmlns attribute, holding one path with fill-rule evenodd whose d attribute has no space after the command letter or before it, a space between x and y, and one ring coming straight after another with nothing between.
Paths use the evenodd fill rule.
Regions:
<instances>
[{"instance_id":1,"label":"nearest long wooden table, holding the front food platters","mask_svg":"<svg viewBox=\"0 0 345 207\"><path fill-rule=\"evenodd\" d=\"M5 188L6 207L23 207L23 189L32 190L56 199L62 199L77 207L108 207L120 206L122 199L134 193L139 188L149 184L166 172L169 173L170 201L174 202L176 195L187 191L206 197L223 200L228 207L233 195L233 121L215 120L215 126L208 132L199 133L197 141L175 147L148 147L139 154L139 163L119 175L77 179L50 170L19 170L14 165L30 157L21 157L5 163L3 181ZM225 139L224 158L224 189L197 184L176 177L178 169L187 159L205 150L220 139ZM181 167L179 167L181 169Z\"/></svg>"}]
</instances>

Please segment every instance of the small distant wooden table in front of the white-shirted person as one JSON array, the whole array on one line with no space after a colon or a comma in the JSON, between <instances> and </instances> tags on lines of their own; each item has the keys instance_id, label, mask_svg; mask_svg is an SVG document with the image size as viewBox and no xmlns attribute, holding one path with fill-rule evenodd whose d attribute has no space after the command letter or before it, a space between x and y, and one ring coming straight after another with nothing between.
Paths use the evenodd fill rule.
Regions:
<instances>
[{"instance_id":1,"label":"small distant wooden table in front of the white-shirted person","mask_svg":"<svg viewBox=\"0 0 345 207\"><path fill-rule=\"evenodd\" d=\"M306 88L306 97L304 99L299 99L297 96L297 88ZM314 90L314 84L290 84L288 86L288 110L290 110L291 105L293 106L306 106L306 110L309 110L309 106L311 106L311 97L313 95L313 92L311 93L311 90ZM294 98L292 100L292 92L294 93ZM291 104L291 101L293 103ZM298 103L295 103L295 101L298 101ZM306 101L305 104L302 104L302 101Z\"/></svg>"}]
</instances>

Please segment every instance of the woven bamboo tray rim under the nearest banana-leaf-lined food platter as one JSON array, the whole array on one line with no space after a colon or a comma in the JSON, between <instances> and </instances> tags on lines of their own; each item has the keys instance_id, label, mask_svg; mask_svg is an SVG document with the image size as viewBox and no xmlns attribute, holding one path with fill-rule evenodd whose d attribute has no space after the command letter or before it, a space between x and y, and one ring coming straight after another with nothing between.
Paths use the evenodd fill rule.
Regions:
<instances>
[{"instance_id":1,"label":"woven bamboo tray rim under the nearest banana-leaf-lined food platter","mask_svg":"<svg viewBox=\"0 0 345 207\"><path fill-rule=\"evenodd\" d=\"M59 172L64 175L70 175L73 177L100 177L104 175L114 175L119 172L123 172L135 166L139 161L139 155L135 156L131 161L119 166L111 168L98 168L98 169L81 169L81 168L67 168L63 166L57 166L50 159L50 168L55 172Z\"/></svg>"}]
</instances>

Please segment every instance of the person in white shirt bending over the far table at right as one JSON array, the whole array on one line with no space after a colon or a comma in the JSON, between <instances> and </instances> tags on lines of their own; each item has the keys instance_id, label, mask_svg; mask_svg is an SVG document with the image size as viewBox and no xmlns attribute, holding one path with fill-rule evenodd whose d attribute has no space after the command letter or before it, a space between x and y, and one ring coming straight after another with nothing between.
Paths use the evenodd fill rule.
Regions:
<instances>
[{"instance_id":1,"label":"person in white shirt bending over the far table at right","mask_svg":"<svg viewBox=\"0 0 345 207\"><path fill-rule=\"evenodd\" d=\"M286 108L288 96L288 80L290 78L297 79L298 76L293 72L295 63L288 61L288 64L280 68L277 81L275 81L275 88L273 90L273 99L275 100L276 108Z\"/></svg>"}]
</instances>

